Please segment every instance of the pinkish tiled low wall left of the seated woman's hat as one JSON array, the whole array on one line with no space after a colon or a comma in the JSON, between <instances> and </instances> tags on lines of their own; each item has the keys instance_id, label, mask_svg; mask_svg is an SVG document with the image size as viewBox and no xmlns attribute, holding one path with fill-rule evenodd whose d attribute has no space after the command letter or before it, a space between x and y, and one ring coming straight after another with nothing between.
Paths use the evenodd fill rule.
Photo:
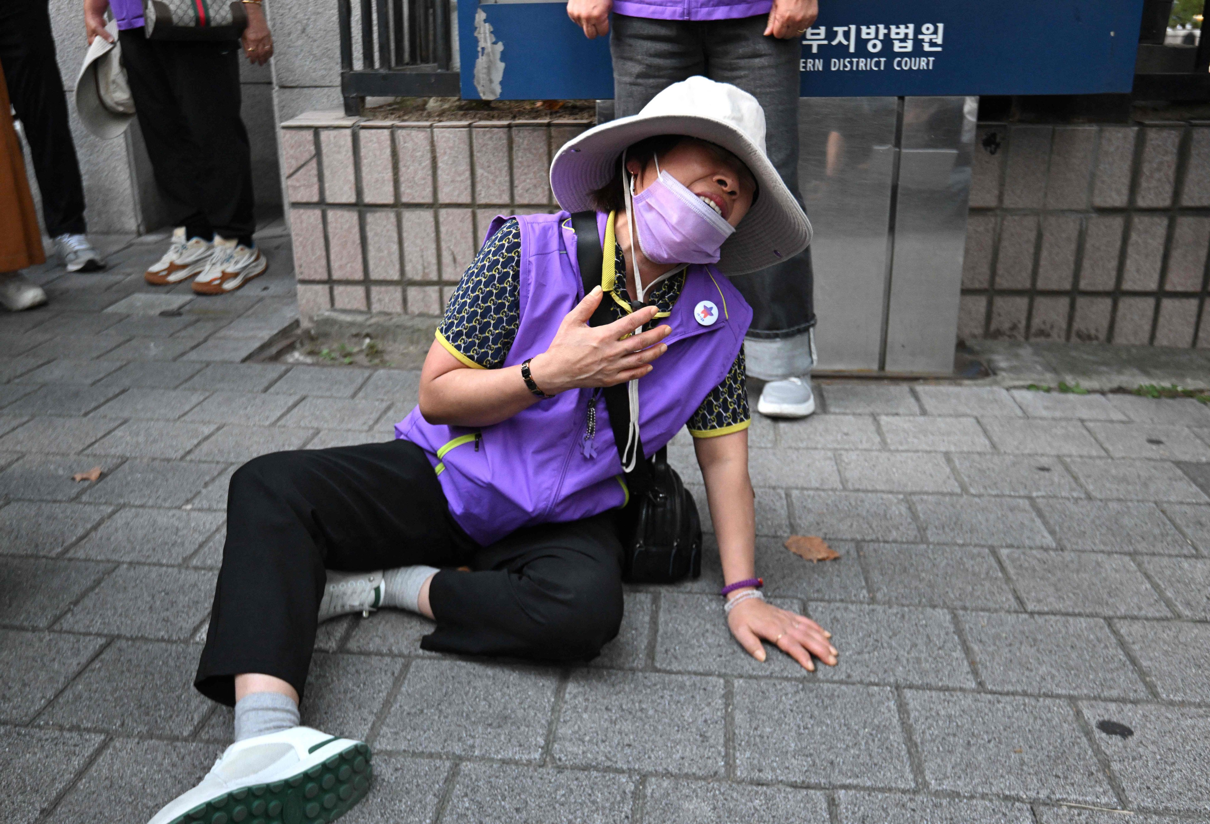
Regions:
<instances>
[{"instance_id":1,"label":"pinkish tiled low wall left of the seated woman's hat","mask_svg":"<svg viewBox=\"0 0 1210 824\"><path fill-rule=\"evenodd\" d=\"M327 309L439 315L495 215L558 211L551 157L589 125L283 123L304 322Z\"/></svg>"}]
</instances>

